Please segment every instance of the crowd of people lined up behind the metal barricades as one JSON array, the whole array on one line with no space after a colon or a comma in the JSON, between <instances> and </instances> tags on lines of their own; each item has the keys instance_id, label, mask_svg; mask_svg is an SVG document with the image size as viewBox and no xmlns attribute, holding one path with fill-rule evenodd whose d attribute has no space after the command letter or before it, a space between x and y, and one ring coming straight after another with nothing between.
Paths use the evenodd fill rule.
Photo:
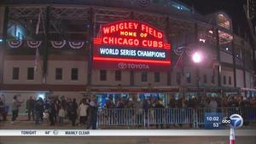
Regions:
<instances>
[{"instance_id":1,"label":"crowd of people lined up behind the metal barricades","mask_svg":"<svg viewBox=\"0 0 256 144\"><path fill-rule=\"evenodd\" d=\"M164 106L164 101L160 98L150 97L146 100L137 98L119 98L115 103L110 97L107 101L106 108L198 108L217 109L218 107L256 107L256 97L244 98L240 95L229 95L222 97L207 96L182 96L176 99L173 95Z\"/></svg>"}]
</instances>

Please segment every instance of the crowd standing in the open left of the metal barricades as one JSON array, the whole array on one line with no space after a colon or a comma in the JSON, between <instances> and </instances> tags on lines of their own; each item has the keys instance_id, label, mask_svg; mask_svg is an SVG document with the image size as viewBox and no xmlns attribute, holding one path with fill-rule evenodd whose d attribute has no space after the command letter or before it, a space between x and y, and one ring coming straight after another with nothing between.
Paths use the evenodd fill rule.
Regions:
<instances>
[{"instance_id":1,"label":"crowd standing in the open left of the metal barricades","mask_svg":"<svg viewBox=\"0 0 256 144\"><path fill-rule=\"evenodd\" d=\"M10 106L12 111L12 124L15 124L19 115L20 106L24 104L26 105L27 120L33 120L36 125L42 124L43 122L49 122L49 125L63 125L64 118L68 118L73 126L84 124L87 126L87 129L96 129L98 106L96 104L95 96L84 98L78 103L76 99L65 99L64 96L61 96L61 99L50 98L47 100L43 100L40 97L38 100L35 100L30 96L25 102L19 101L17 95L15 95ZM3 105L3 100L0 99L0 116L4 111ZM3 120L6 120L6 118ZM77 121L79 121L79 123L76 123Z\"/></svg>"}]
</instances>

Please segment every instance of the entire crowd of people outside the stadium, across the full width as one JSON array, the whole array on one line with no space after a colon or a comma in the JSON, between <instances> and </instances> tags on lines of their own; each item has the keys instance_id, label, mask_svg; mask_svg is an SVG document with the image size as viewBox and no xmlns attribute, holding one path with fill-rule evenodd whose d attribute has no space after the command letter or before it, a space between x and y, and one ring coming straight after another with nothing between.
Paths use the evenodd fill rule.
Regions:
<instances>
[{"instance_id":1,"label":"entire crowd of people outside the stadium, across the full width","mask_svg":"<svg viewBox=\"0 0 256 144\"><path fill-rule=\"evenodd\" d=\"M113 96L109 96L106 105L101 107L105 109L137 109L138 113L142 113L140 110L148 112L149 109L154 108L205 108L211 110L211 112L217 112L218 107L247 107L256 109L256 97L244 98L240 95L223 97L182 96L178 99L171 95L169 101L165 102L166 105L162 99L153 96L143 99L133 95L128 98L119 97L116 101L113 100ZM15 95L11 106L9 106L12 111L12 124L15 124L21 105L26 105L27 120L33 120L35 124L48 122L49 125L63 125L64 120L67 118L73 126L80 124L86 125L88 129L90 127L94 130L96 129L98 111L96 95L84 97L79 103L76 99L66 98L65 96L61 96L60 99L49 98L45 100L42 98L35 100L33 96L30 96L26 101L19 101L17 95ZM0 98L0 115L3 116L3 120L6 120L7 112L6 108L4 108L3 99ZM123 113L120 116L123 116ZM140 118L139 116L138 118Z\"/></svg>"}]
</instances>

